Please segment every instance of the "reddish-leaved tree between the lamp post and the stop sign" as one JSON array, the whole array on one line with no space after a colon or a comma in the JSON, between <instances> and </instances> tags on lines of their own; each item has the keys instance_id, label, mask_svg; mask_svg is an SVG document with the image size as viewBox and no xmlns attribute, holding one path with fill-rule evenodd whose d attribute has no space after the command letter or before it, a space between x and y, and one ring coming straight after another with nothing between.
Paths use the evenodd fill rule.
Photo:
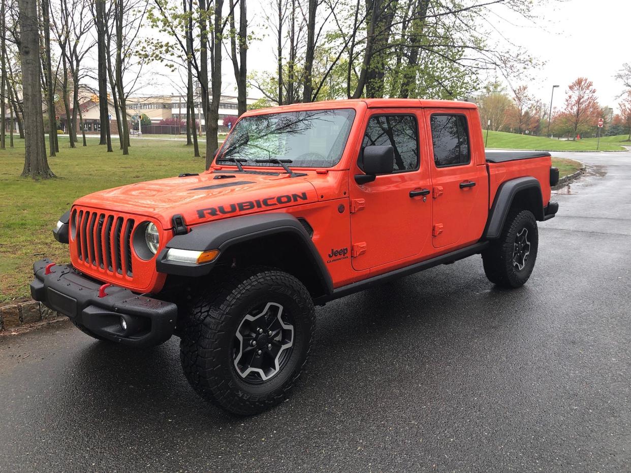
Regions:
<instances>
[{"instance_id":1,"label":"reddish-leaved tree between the lamp post and the stop sign","mask_svg":"<svg viewBox=\"0 0 631 473\"><path fill-rule=\"evenodd\" d=\"M568 88L561 120L565 129L577 136L593 129L600 116L600 107L594 84L587 78L577 78Z\"/></svg>"}]
</instances>

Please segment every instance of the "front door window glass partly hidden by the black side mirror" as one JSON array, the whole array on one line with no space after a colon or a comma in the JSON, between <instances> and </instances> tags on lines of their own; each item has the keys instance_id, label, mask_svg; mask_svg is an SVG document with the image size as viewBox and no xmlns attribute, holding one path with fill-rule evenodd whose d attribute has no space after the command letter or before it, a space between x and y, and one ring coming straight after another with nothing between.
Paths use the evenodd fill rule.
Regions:
<instances>
[{"instance_id":1,"label":"front door window glass partly hidden by the black side mirror","mask_svg":"<svg viewBox=\"0 0 631 473\"><path fill-rule=\"evenodd\" d=\"M413 115L374 115L370 117L362 148L387 146L394 148L394 170L418 169L418 126ZM362 168L362 162L359 162Z\"/></svg>"}]
</instances>

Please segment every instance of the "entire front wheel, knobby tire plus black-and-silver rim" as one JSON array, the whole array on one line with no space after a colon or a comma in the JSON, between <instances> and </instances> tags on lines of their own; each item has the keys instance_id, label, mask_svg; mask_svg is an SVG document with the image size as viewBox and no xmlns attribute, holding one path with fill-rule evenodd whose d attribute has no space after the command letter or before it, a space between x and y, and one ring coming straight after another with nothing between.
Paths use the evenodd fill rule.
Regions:
<instances>
[{"instance_id":1,"label":"entire front wheel, knobby tire plus black-and-silver rim","mask_svg":"<svg viewBox=\"0 0 631 473\"><path fill-rule=\"evenodd\" d=\"M257 414L286 398L314 327L313 302L298 279L273 268L239 272L192 303L180 342L184 374L221 409Z\"/></svg>"}]
</instances>

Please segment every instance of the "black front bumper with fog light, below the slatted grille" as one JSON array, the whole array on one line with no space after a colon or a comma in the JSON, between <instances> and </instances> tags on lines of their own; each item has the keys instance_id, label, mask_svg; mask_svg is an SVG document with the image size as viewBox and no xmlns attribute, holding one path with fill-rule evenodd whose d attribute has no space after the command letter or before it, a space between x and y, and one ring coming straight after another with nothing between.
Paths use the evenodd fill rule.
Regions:
<instances>
[{"instance_id":1,"label":"black front bumper with fog light, below the slatted grille","mask_svg":"<svg viewBox=\"0 0 631 473\"><path fill-rule=\"evenodd\" d=\"M42 259L33 264L33 299L67 315L90 332L123 345L155 346L173 335L177 322L174 303L139 296L118 286L109 286L105 289L107 295L99 297L103 283L62 264L50 267L49 274L45 274L50 263ZM126 329L122 328L121 319Z\"/></svg>"}]
</instances>

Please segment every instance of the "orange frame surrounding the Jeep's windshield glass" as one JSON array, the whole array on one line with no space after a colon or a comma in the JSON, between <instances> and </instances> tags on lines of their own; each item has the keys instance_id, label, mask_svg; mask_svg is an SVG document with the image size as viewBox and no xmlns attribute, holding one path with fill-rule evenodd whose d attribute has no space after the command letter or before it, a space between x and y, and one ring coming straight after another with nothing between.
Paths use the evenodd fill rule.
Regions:
<instances>
[{"instance_id":1,"label":"orange frame surrounding the Jeep's windshield glass","mask_svg":"<svg viewBox=\"0 0 631 473\"><path fill-rule=\"evenodd\" d=\"M363 106L363 107L362 107ZM230 163L229 161L222 161L221 156L224 153L224 146L228 143L230 139L230 135L232 135L233 131L237 129L239 122L242 119L247 119L250 117L260 117L262 115L280 115L280 114L290 114L295 112L319 112L323 110L346 110L351 112L349 117L350 126L348 129L348 135L346 136L345 143L341 146L341 152L339 154L339 159L331 163L330 165L319 165L319 166L305 166L305 165L295 165L293 163L288 163L288 167L297 170L316 170L316 169L327 169L334 170L336 168L346 168L348 164L346 164L346 155L349 153L349 149L351 145L355 144L355 129L359 126L358 123L361 122L361 113L362 108L367 108L366 104L361 100L336 100L336 101L323 101L323 102L314 102L310 103L309 107L305 107L304 103L296 103L293 105L283 105L281 107L271 107L271 108L261 108L259 110L249 110L245 112L245 114L239 117L239 120L235 123L235 125L230 129L225 141L221 143L220 148L217 150L215 157L213 158L213 163L211 164L211 168L220 167L220 168L233 168L236 167L234 163ZM219 163L217 162L219 161ZM279 164L267 164L267 163L255 163L254 160L248 160L247 162L242 161L242 166L244 168L253 168L257 170L261 169L271 169L275 170L277 168L282 168Z\"/></svg>"}]
</instances>

